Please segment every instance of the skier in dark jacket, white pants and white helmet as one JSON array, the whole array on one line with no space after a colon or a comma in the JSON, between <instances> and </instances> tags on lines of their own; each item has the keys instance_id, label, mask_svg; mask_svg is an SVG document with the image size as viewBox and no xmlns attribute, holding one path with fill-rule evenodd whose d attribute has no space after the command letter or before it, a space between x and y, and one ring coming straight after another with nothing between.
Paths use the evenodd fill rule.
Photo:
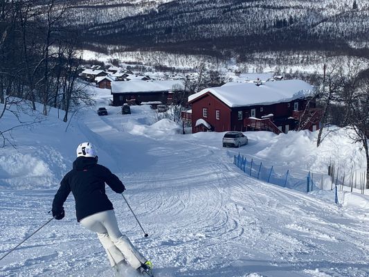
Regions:
<instances>
[{"instance_id":1,"label":"skier in dark jacket, white pants and white helmet","mask_svg":"<svg viewBox=\"0 0 369 277\"><path fill-rule=\"evenodd\" d=\"M98 234L111 267L119 272L128 263L141 274L152 276L152 263L138 252L127 236L120 233L113 204L105 194L105 183L116 193L123 193L125 190L116 175L98 164L95 146L89 142L81 143L77 148L73 169L64 176L55 194L53 217L62 220L63 204L72 192L78 222Z\"/></svg>"}]
</instances>

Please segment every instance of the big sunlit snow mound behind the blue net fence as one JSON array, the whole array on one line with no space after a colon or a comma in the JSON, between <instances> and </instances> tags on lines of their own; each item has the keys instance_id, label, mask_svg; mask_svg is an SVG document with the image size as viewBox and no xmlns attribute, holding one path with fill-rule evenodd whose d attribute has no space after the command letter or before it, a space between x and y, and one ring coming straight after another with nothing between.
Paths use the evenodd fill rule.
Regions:
<instances>
[{"instance_id":1,"label":"big sunlit snow mound behind the blue net fence","mask_svg":"<svg viewBox=\"0 0 369 277\"><path fill-rule=\"evenodd\" d=\"M258 157L273 159L287 168L299 167L309 171L325 172L330 162L335 163L340 172L364 170L365 152L360 144L352 144L353 131L348 128L332 127L323 132L321 145L316 148L318 131L290 131L271 138L270 144L257 153ZM349 174L350 172L345 172Z\"/></svg>"}]
</instances>

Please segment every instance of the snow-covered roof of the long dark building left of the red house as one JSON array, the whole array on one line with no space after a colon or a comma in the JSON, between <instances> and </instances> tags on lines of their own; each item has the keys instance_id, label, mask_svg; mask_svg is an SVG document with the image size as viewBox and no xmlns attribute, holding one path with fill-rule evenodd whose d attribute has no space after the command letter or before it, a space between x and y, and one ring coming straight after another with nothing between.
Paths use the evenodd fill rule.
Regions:
<instances>
[{"instance_id":1,"label":"snow-covered roof of the long dark building left of the red house","mask_svg":"<svg viewBox=\"0 0 369 277\"><path fill-rule=\"evenodd\" d=\"M120 81L111 83L111 93L132 93L152 91L175 91L184 89L182 82L174 80L165 81Z\"/></svg>"}]
</instances>

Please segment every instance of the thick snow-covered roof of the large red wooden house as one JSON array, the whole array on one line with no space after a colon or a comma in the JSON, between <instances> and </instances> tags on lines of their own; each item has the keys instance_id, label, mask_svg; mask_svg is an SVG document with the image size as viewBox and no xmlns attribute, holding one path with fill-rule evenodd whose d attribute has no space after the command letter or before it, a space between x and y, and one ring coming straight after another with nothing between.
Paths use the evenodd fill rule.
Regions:
<instances>
[{"instance_id":1,"label":"thick snow-covered roof of the large red wooden house","mask_svg":"<svg viewBox=\"0 0 369 277\"><path fill-rule=\"evenodd\" d=\"M303 80L265 82L260 86L253 83L228 82L222 87L211 87L192 94L188 97L188 101L190 102L207 92L212 93L228 107L244 107L271 105L312 96L313 87Z\"/></svg>"}]
</instances>

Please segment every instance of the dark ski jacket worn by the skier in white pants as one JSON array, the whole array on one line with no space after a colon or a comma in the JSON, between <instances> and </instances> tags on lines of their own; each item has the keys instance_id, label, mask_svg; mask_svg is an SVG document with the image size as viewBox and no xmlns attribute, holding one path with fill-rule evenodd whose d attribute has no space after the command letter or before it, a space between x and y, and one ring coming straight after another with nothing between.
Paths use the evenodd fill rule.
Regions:
<instances>
[{"instance_id":1,"label":"dark ski jacket worn by the skier in white pants","mask_svg":"<svg viewBox=\"0 0 369 277\"><path fill-rule=\"evenodd\" d=\"M66 173L60 182L53 200L53 214L61 213L69 193L75 199L75 212L80 222L84 217L113 210L113 204L105 194L105 183L116 193L123 193L125 186L105 166L97 164L97 159L78 157L73 162L73 170Z\"/></svg>"}]
</instances>

